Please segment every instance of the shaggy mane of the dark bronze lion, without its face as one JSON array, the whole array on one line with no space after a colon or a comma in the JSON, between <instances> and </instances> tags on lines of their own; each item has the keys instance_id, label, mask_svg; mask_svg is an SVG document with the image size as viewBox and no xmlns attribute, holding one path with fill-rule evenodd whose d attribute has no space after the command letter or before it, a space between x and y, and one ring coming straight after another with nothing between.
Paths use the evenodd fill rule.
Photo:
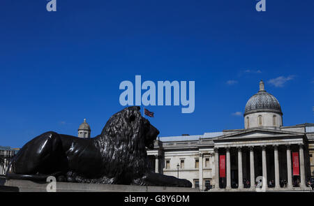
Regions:
<instances>
[{"instance_id":1,"label":"shaggy mane of the dark bronze lion, without its face","mask_svg":"<svg viewBox=\"0 0 314 206\"><path fill-rule=\"evenodd\" d=\"M86 179L75 172L68 176L77 182L103 184L132 184L149 170L145 145L147 124L138 107L117 112L110 117L100 135L95 138L96 147L103 157L99 179Z\"/></svg>"}]
</instances>

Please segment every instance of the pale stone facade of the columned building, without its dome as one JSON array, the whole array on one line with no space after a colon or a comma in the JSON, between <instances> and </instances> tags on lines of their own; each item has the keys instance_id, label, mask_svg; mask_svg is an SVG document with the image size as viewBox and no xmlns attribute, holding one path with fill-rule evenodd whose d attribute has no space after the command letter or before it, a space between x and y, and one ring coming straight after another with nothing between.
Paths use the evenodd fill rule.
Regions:
<instances>
[{"instance_id":1,"label":"pale stone facade of the columned building, without its dome","mask_svg":"<svg viewBox=\"0 0 314 206\"><path fill-rule=\"evenodd\" d=\"M294 126L297 131L306 128L312 129L314 124ZM289 130L289 127L226 130L223 135L207 137L209 133L206 133L198 139L191 136L190 140L187 140L188 136L160 137L147 154L152 170L188 179L193 187L201 190L209 184L216 189L248 188L239 179L255 184L258 176L266 177L264 184L267 187L269 181L274 180L274 187L285 188L281 186L281 181L285 180L287 187L299 182L294 186L302 188L314 172L314 133L285 129ZM292 176L292 152L299 154L298 176ZM226 156L225 179L218 176L220 155ZM253 186L249 186L252 189Z\"/></svg>"}]
</instances>

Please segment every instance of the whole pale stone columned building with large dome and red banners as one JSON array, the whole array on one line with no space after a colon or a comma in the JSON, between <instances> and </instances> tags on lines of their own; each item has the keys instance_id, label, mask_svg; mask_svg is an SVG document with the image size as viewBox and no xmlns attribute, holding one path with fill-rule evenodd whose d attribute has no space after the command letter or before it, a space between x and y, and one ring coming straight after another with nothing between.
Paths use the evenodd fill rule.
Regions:
<instances>
[{"instance_id":1,"label":"whole pale stone columned building with large dome and red banners","mask_svg":"<svg viewBox=\"0 0 314 206\"><path fill-rule=\"evenodd\" d=\"M277 99L264 89L246 103L244 128L160 137L151 168L201 190L304 190L314 176L314 124L283 126ZM264 178L263 178L264 177Z\"/></svg>"}]
</instances>

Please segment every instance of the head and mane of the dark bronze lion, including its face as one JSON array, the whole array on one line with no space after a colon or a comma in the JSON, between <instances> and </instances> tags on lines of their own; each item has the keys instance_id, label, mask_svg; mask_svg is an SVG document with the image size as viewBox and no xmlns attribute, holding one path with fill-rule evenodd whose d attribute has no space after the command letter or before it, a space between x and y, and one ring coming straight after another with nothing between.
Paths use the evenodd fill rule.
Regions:
<instances>
[{"instance_id":1,"label":"head and mane of the dark bronze lion, including its face","mask_svg":"<svg viewBox=\"0 0 314 206\"><path fill-rule=\"evenodd\" d=\"M107 164L111 164L106 173L114 177L144 173L147 170L146 147L154 147L158 134L158 129L142 117L140 107L128 107L112 115L100 135L103 156Z\"/></svg>"}]
</instances>

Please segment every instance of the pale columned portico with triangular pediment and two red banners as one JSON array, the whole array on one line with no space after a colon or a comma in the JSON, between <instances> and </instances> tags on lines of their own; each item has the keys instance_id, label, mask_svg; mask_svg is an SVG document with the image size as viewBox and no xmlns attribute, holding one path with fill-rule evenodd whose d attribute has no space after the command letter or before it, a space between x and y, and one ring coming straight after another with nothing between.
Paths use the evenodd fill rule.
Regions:
<instances>
[{"instance_id":1,"label":"pale columned portico with triangular pediment and two red banners","mask_svg":"<svg viewBox=\"0 0 314 206\"><path fill-rule=\"evenodd\" d=\"M216 189L255 190L259 179L262 179L259 186L265 189L306 186L303 149L306 136L302 133L253 128L213 138L213 141L215 159L225 155L226 168L225 177L220 177L220 172L215 175L219 182ZM292 161L292 152L297 152L298 159ZM299 174L294 176L292 162L299 168ZM215 168L220 168L220 161L215 161Z\"/></svg>"}]
</instances>

